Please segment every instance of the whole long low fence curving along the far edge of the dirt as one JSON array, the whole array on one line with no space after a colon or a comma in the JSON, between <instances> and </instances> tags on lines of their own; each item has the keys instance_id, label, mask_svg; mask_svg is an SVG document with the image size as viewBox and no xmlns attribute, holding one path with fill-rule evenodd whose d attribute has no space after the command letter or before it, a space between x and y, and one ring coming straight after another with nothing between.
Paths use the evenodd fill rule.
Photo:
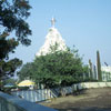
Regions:
<instances>
[{"instance_id":1,"label":"whole long low fence curving along the far edge of the dirt","mask_svg":"<svg viewBox=\"0 0 111 111\"><path fill-rule=\"evenodd\" d=\"M111 87L111 82L82 82L77 83L71 87L65 88L57 88L57 89L42 89L42 90L23 90L11 92L13 95L21 97L31 102L40 102L52 98L58 98L61 90L65 92L65 94L73 93L77 90L90 89L90 88L104 88Z\"/></svg>"}]
</instances>

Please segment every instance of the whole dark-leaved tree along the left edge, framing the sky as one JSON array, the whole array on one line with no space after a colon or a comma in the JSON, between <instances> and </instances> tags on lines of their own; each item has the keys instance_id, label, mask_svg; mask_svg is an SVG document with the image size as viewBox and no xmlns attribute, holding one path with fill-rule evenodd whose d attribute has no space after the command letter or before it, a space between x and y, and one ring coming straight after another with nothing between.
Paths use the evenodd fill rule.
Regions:
<instances>
[{"instance_id":1,"label":"whole dark-leaved tree along the left edge, framing the sky","mask_svg":"<svg viewBox=\"0 0 111 111\"><path fill-rule=\"evenodd\" d=\"M30 16L30 4L28 0L1 0L0 1L0 80L9 75L21 65L22 61L14 58L9 60L9 54L21 42L29 46L31 34L26 19ZM14 37L11 37L11 33Z\"/></svg>"}]
</instances>

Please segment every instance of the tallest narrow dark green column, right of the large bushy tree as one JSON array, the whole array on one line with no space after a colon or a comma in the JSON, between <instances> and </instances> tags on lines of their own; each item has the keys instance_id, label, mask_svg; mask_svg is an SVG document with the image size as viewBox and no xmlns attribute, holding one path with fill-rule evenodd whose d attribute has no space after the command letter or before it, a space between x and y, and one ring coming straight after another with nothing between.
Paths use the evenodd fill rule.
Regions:
<instances>
[{"instance_id":1,"label":"tallest narrow dark green column, right of the large bushy tree","mask_svg":"<svg viewBox=\"0 0 111 111\"><path fill-rule=\"evenodd\" d=\"M100 62L100 53L99 53L99 51L97 51L97 70L98 70L98 80L102 81L101 62Z\"/></svg>"}]
</instances>

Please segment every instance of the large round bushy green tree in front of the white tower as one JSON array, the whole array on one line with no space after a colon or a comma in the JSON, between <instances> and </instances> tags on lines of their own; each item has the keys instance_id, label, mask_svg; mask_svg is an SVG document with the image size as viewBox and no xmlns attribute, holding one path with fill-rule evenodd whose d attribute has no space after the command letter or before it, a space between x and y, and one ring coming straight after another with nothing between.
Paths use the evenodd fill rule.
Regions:
<instances>
[{"instance_id":1,"label":"large round bushy green tree in front of the white tower","mask_svg":"<svg viewBox=\"0 0 111 111\"><path fill-rule=\"evenodd\" d=\"M26 69L26 75L31 77L37 83L44 84L46 88L71 85L83 79L84 68L78 50L73 50L73 52L71 50L56 51L47 56L40 56L36 58L31 65L31 74ZM24 73L24 71L22 72Z\"/></svg>"}]
</instances>

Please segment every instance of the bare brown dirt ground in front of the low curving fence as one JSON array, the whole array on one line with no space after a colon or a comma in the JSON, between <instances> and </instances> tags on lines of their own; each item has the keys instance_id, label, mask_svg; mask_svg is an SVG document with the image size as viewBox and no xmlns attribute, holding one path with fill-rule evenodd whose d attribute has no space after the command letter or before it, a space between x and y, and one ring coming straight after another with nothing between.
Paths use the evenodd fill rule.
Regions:
<instances>
[{"instance_id":1,"label":"bare brown dirt ground in front of the low curving fence","mask_svg":"<svg viewBox=\"0 0 111 111\"><path fill-rule=\"evenodd\" d=\"M111 111L111 88L84 90L78 95L57 98L41 104L59 111Z\"/></svg>"}]
</instances>

